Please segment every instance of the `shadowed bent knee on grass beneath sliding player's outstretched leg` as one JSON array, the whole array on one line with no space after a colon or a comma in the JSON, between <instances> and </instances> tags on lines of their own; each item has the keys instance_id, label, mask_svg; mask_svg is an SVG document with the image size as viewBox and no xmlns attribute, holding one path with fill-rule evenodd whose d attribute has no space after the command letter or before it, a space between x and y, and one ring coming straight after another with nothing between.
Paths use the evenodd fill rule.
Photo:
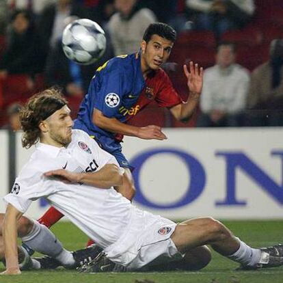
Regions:
<instances>
[{"instance_id":1,"label":"shadowed bent knee on grass beneath sliding player's outstretched leg","mask_svg":"<svg viewBox=\"0 0 283 283\"><path fill-rule=\"evenodd\" d=\"M206 245L202 245L186 252L181 268L189 271L200 270L206 267L210 261L211 251Z\"/></svg>"}]
</instances>

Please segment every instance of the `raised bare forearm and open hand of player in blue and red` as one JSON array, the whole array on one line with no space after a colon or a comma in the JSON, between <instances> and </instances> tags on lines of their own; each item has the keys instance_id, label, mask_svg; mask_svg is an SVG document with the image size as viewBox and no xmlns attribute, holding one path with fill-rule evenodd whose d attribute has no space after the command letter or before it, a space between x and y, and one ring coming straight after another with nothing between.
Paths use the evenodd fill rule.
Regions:
<instances>
[{"instance_id":1,"label":"raised bare forearm and open hand of player in blue and red","mask_svg":"<svg viewBox=\"0 0 283 283\"><path fill-rule=\"evenodd\" d=\"M193 62L189 62L189 70L187 65L184 65L183 68L189 87L189 98L186 103L180 103L172 107L170 111L177 120L187 122L198 107L202 92L203 68L199 68L198 64L193 64Z\"/></svg>"}]
</instances>

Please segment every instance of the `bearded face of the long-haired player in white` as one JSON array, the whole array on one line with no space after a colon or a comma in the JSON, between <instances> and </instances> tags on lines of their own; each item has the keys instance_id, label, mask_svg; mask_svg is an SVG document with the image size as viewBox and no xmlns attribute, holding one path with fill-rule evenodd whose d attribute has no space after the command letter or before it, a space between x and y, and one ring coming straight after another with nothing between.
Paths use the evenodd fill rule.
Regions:
<instances>
[{"instance_id":1,"label":"bearded face of the long-haired player in white","mask_svg":"<svg viewBox=\"0 0 283 283\"><path fill-rule=\"evenodd\" d=\"M72 118L67 105L55 111L46 120L49 140L53 145L66 146L72 141Z\"/></svg>"}]
</instances>

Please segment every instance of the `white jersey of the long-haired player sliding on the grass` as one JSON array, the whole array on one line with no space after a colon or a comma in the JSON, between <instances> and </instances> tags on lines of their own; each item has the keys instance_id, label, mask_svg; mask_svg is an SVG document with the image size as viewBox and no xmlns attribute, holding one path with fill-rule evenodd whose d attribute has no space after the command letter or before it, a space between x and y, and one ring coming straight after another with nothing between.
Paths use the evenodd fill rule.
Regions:
<instances>
[{"instance_id":1,"label":"white jersey of the long-haired player sliding on the grass","mask_svg":"<svg viewBox=\"0 0 283 283\"><path fill-rule=\"evenodd\" d=\"M128 226L133 206L115 189L84 184L66 184L45 177L49 170L94 172L116 159L102 150L87 133L72 130L72 142L66 148L38 144L16 178L5 202L25 213L31 201L46 198L91 239L105 248L116 243Z\"/></svg>"}]
</instances>

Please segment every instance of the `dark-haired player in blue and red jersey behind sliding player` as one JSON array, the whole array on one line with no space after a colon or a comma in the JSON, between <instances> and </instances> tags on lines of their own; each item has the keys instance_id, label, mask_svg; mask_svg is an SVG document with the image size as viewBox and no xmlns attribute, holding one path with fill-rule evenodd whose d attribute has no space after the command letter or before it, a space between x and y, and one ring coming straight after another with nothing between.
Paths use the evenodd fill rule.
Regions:
<instances>
[{"instance_id":1,"label":"dark-haired player in blue and red jersey behind sliding player","mask_svg":"<svg viewBox=\"0 0 283 283\"><path fill-rule=\"evenodd\" d=\"M202 90L203 70L198 64L184 65L189 98L183 102L174 90L161 65L164 64L176 40L176 31L164 23L149 25L144 33L138 53L114 57L96 70L86 94L75 129L82 129L94 137L98 144L113 154L125 168L123 185L116 189L131 200L135 194L131 165L122 154L122 135L141 139L166 139L161 128L126 124L132 116L152 100L167 107L177 120L191 118ZM46 226L54 224L62 215L54 208L47 211L40 221Z\"/></svg>"}]
</instances>

